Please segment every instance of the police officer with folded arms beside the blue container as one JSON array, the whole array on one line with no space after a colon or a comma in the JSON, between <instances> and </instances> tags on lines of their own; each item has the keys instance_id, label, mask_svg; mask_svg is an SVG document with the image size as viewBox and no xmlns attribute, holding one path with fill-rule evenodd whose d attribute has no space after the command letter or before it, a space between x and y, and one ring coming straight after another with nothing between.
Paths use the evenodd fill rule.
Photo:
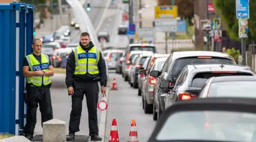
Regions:
<instances>
[{"instance_id":1,"label":"police officer with folded arms beside the blue container","mask_svg":"<svg viewBox=\"0 0 256 142\"><path fill-rule=\"evenodd\" d=\"M24 127L24 135L32 139L36 125L36 110L40 107L42 126L43 122L53 119L51 103L51 80L54 70L51 60L41 53L42 41L33 41L33 53L23 60L23 75L27 78L27 123Z\"/></svg>"}]
</instances>

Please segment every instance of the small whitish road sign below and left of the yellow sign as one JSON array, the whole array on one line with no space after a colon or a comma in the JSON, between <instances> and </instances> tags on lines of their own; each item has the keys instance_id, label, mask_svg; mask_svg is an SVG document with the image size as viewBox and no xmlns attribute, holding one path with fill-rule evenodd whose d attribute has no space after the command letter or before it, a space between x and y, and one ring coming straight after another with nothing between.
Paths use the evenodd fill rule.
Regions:
<instances>
[{"instance_id":1,"label":"small whitish road sign below and left of the yellow sign","mask_svg":"<svg viewBox=\"0 0 256 142\"><path fill-rule=\"evenodd\" d=\"M138 36L139 43L154 43L154 28L139 28Z\"/></svg>"}]
</instances>

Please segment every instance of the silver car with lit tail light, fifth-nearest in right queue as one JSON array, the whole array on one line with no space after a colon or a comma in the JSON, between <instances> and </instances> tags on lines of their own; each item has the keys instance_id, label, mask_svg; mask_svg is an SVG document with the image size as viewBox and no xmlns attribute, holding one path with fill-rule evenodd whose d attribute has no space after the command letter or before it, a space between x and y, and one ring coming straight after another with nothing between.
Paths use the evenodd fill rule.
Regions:
<instances>
[{"instance_id":1,"label":"silver car with lit tail light, fifth-nearest in right queue","mask_svg":"<svg viewBox=\"0 0 256 142\"><path fill-rule=\"evenodd\" d=\"M168 57L159 57L155 59L154 63L150 68L150 72L152 70L162 70L164 62L166 62ZM148 73L146 80L144 81L144 85L142 87L142 107L144 108L144 113L149 114L153 112L153 101L154 101L154 85L156 83L156 78L150 76L150 72Z\"/></svg>"}]
</instances>

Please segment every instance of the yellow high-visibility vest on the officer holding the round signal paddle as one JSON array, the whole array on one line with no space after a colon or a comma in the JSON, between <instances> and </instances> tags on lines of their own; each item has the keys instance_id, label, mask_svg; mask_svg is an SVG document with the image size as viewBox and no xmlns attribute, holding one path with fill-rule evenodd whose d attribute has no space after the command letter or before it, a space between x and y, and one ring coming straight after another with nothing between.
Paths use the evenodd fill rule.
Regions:
<instances>
[{"instance_id":1,"label":"yellow high-visibility vest on the officer holding the round signal paddle","mask_svg":"<svg viewBox=\"0 0 256 142\"><path fill-rule=\"evenodd\" d=\"M76 69L74 74L98 74L98 60L100 60L100 49L91 48L88 52L80 46L73 49L76 59Z\"/></svg>"}]
</instances>

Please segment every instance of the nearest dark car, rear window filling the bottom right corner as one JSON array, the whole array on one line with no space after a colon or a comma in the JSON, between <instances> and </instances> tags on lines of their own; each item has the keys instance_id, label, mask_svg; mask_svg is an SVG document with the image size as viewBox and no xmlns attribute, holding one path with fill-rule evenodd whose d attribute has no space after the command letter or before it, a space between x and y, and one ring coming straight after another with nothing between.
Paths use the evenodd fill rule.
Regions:
<instances>
[{"instance_id":1,"label":"nearest dark car, rear window filling the bottom right corner","mask_svg":"<svg viewBox=\"0 0 256 142\"><path fill-rule=\"evenodd\" d=\"M255 98L202 98L174 103L147 142L256 141Z\"/></svg>"}]
</instances>

